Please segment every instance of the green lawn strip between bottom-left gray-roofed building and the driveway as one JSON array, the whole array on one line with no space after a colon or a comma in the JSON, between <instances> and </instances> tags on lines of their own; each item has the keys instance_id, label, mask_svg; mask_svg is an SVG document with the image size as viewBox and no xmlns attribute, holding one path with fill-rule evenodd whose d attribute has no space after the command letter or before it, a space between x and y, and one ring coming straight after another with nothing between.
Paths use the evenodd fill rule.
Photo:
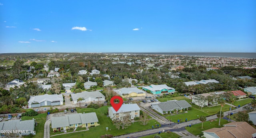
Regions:
<instances>
[{"instance_id":1,"label":"green lawn strip between bottom-left gray-roofed building and the driveway","mask_svg":"<svg viewBox=\"0 0 256 138\"><path fill-rule=\"evenodd\" d=\"M37 126L35 127L36 131L36 138L43 138L44 137L44 123L46 122L46 113L38 114L34 117L28 117L28 116L22 116L22 120L32 120L33 118L36 119ZM28 136L25 136L24 138L28 138Z\"/></svg>"}]
</instances>

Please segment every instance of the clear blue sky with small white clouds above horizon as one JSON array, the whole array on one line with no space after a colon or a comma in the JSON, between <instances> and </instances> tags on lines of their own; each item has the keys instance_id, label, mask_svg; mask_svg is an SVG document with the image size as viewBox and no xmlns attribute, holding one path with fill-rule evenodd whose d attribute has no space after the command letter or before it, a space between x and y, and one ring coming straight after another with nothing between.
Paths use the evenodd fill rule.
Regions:
<instances>
[{"instance_id":1,"label":"clear blue sky with small white clouds above horizon","mask_svg":"<svg viewBox=\"0 0 256 138\"><path fill-rule=\"evenodd\" d=\"M0 53L256 52L255 0L0 0Z\"/></svg>"}]
</instances>

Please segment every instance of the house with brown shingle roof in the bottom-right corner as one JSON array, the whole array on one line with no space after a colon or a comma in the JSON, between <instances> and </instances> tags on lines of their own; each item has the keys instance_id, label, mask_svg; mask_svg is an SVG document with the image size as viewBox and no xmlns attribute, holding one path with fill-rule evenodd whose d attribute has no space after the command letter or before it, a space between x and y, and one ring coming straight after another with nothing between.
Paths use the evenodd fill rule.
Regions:
<instances>
[{"instance_id":1,"label":"house with brown shingle roof in the bottom-right corner","mask_svg":"<svg viewBox=\"0 0 256 138\"><path fill-rule=\"evenodd\" d=\"M256 129L247 122L230 122L221 128L202 131L206 138L255 138Z\"/></svg>"}]
</instances>

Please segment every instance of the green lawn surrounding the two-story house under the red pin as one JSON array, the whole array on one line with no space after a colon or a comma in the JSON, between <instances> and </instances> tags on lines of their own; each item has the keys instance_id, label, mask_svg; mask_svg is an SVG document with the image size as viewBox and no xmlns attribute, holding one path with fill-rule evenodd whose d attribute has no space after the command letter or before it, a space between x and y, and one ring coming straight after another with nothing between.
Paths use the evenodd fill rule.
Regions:
<instances>
[{"instance_id":1,"label":"green lawn surrounding the two-story house under the red pin","mask_svg":"<svg viewBox=\"0 0 256 138\"><path fill-rule=\"evenodd\" d=\"M108 106L104 106L99 109L93 109L93 108L78 109L77 112L78 113L96 112L100 126L90 127L88 131L54 136L53 138L63 138L63 136L67 137L67 138L82 138L82 137L99 138L101 135L104 135L104 134L112 134L113 136L118 136L118 135L122 135L122 134L128 134L128 133L132 133L132 132L151 129L152 125L155 126L155 124L160 124L156 120L151 119L148 122L148 124L145 126L141 125L140 122L134 122L134 124L132 124L131 126L129 126L128 128L126 128L124 130L122 130L122 129L117 130L115 128L115 126L112 124L111 119L106 116L106 113L108 112ZM108 129L109 129L108 131L106 131L106 127L108 127Z\"/></svg>"}]
</instances>

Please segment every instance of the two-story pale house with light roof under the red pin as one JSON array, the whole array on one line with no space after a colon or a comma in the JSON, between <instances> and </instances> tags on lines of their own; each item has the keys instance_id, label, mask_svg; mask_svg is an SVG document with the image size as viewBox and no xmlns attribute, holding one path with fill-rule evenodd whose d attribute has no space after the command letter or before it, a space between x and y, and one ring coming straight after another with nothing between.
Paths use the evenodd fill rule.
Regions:
<instances>
[{"instance_id":1,"label":"two-story pale house with light roof under the red pin","mask_svg":"<svg viewBox=\"0 0 256 138\"><path fill-rule=\"evenodd\" d=\"M118 111L114 110L113 107L108 107L108 115L112 121L126 116L129 119L134 119L134 117L140 117L140 107L136 103L122 104Z\"/></svg>"}]
</instances>

